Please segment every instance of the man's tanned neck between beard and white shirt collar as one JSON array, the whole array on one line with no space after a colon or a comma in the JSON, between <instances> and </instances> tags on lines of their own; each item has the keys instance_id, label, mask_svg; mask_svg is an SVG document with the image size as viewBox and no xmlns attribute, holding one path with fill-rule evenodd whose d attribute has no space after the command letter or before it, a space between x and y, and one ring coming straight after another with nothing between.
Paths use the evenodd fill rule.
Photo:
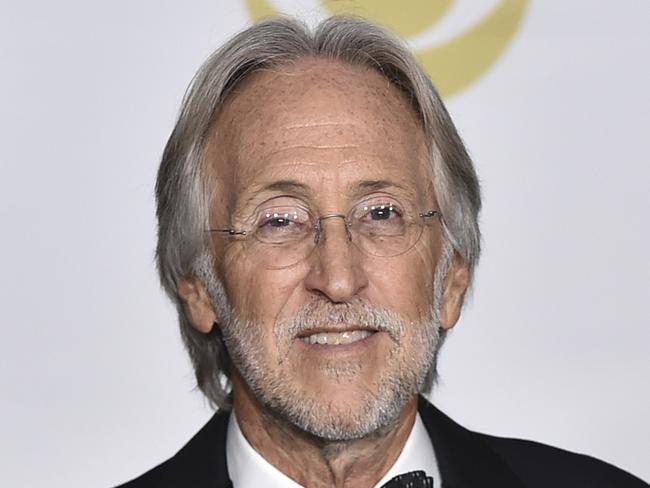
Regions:
<instances>
[{"instance_id":1,"label":"man's tanned neck between beard and white shirt collar","mask_svg":"<svg viewBox=\"0 0 650 488\"><path fill-rule=\"evenodd\" d=\"M417 396L400 416L362 439L329 441L266 411L241 378L233 378L239 428L270 464L302 486L372 487L397 460L417 415Z\"/></svg>"}]
</instances>

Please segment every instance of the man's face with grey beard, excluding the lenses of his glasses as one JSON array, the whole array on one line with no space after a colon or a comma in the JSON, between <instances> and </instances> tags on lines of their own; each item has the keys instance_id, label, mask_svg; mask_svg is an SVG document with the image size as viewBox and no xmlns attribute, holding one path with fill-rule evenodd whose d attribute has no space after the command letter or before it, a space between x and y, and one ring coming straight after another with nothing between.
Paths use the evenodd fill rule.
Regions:
<instances>
[{"instance_id":1,"label":"man's face with grey beard, excluding the lenses of his glasses","mask_svg":"<svg viewBox=\"0 0 650 488\"><path fill-rule=\"evenodd\" d=\"M256 73L230 96L207 157L214 229L250 230L277 201L318 216L361 201L437 208L413 109L362 68L305 60ZM282 269L251 237L215 236L228 299L215 309L227 315L217 322L236 369L235 406L254 398L316 435L354 438L395 420L428 371L441 230L430 222L409 251L381 258L350 242L342 219L322 226L313 252Z\"/></svg>"}]
</instances>

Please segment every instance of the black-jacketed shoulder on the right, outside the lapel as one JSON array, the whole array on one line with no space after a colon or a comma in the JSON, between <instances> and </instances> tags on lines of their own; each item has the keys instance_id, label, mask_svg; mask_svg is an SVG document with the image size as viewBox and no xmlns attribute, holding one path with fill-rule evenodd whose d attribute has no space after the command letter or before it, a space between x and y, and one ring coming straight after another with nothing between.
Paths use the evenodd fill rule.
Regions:
<instances>
[{"instance_id":1,"label":"black-jacketed shoulder on the right, outside the lapel","mask_svg":"<svg viewBox=\"0 0 650 488\"><path fill-rule=\"evenodd\" d=\"M648 484L609 463L539 442L473 433L530 488L643 488Z\"/></svg>"}]
</instances>

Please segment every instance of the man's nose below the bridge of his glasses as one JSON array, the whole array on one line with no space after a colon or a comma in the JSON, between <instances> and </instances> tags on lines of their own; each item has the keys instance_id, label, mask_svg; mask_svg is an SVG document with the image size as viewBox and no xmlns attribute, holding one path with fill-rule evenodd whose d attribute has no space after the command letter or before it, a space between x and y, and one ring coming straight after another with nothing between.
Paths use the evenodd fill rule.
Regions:
<instances>
[{"instance_id":1,"label":"man's nose below the bridge of his glasses","mask_svg":"<svg viewBox=\"0 0 650 488\"><path fill-rule=\"evenodd\" d=\"M340 222L338 217L343 222ZM363 267L361 251L351 242L352 235L345 216L321 217L317 238L305 286L312 292L324 295L333 303L351 300L367 286L368 278Z\"/></svg>"}]
</instances>

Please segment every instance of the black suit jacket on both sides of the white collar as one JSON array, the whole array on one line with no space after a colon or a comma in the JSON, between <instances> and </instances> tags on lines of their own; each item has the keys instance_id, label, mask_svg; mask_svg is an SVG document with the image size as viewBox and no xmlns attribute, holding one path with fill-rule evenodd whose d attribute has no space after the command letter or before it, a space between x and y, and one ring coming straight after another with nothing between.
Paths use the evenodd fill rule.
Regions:
<instances>
[{"instance_id":1,"label":"black suit jacket on both sides of the white collar","mask_svg":"<svg viewBox=\"0 0 650 488\"><path fill-rule=\"evenodd\" d=\"M458 425L424 398L420 398L419 412L429 436L434 440L443 488L650 486L610 464L589 456L537 442L472 432ZM139 478L121 485L121 488L232 486L226 466L228 419L227 412L215 414L174 457Z\"/></svg>"}]
</instances>

